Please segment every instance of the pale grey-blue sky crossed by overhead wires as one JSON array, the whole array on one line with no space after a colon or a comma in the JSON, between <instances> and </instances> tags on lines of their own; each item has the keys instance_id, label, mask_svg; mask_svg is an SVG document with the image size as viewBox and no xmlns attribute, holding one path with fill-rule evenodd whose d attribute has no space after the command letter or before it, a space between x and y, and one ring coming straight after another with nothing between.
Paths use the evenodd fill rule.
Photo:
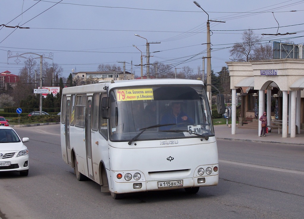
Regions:
<instances>
[{"instance_id":1,"label":"pale grey-blue sky crossed by overhead wires","mask_svg":"<svg viewBox=\"0 0 304 219\"><path fill-rule=\"evenodd\" d=\"M123 62L126 71L140 76L141 52L146 64L149 42L150 63L171 64L177 72L189 66L197 73L207 56L208 15L214 72L231 61L230 47L242 42L244 30L257 36L295 33L264 35L261 43L304 42L304 1L196 2L206 13L190 0L0 0L0 25L29 27L0 27L0 72L18 75L26 59L22 57L32 56L39 63L43 55L43 61L63 68L63 77L72 69L97 71L99 64L123 67Z\"/></svg>"}]
</instances>

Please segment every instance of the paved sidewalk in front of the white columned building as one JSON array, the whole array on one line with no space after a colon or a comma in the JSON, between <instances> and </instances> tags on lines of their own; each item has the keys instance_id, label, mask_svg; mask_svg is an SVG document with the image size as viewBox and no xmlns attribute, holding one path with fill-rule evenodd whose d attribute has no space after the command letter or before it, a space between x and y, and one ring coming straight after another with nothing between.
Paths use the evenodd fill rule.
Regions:
<instances>
[{"instance_id":1,"label":"paved sidewalk in front of the white columned building","mask_svg":"<svg viewBox=\"0 0 304 219\"><path fill-rule=\"evenodd\" d=\"M266 137L260 137L257 129L243 129L236 127L236 134L231 134L231 127L225 125L214 125L215 137L218 140L235 140L235 141L251 141L251 142L267 142L275 144L293 144L304 145L304 130L301 129L300 134L296 134L291 138L290 134L287 138L282 138L282 129L278 134L278 129L266 134Z\"/></svg>"}]
</instances>

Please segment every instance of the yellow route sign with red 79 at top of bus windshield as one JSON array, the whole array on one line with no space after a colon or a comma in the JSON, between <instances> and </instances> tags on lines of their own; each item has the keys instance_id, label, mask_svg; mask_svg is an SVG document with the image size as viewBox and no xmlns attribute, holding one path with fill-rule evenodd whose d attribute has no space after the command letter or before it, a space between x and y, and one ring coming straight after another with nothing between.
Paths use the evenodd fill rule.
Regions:
<instances>
[{"instance_id":1,"label":"yellow route sign with red 79 at top of bus windshield","mask_svg":"<svg viewBox=\"0 0 304 219\"><path fill-rule=\"evenodd\" d=\"M152 88L119 89L116 90L117 101L153 100Z\"/></svg>"}]
</instances>

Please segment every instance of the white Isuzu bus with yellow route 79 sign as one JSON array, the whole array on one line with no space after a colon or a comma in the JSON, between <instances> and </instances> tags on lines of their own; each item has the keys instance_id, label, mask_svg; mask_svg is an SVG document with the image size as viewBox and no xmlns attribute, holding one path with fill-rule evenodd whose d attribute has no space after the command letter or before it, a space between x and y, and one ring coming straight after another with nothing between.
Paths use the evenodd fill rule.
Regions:
<instances>
[{"instance_id":1,"label":"white Isuzu bus with yellow route 79 sign","mask_svg":"<svg viewBox=\"0 0 304 219\"><path fill-rule=\"evenodd\" d=\"M180 188L197 193L200 186L215 186L218 152L205 88L200 80L186 79L64 88L62 157L79 181L92 179L114 199L124 193Z\"/></svg>"}]
</instances>

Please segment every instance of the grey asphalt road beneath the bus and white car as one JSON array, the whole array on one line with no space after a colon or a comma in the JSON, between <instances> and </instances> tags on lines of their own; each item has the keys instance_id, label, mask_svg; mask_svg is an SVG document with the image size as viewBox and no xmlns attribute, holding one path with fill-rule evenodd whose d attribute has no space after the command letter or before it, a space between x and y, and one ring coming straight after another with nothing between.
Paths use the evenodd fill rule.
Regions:
<instances>
[{"instance_id":1,"label":"grey asphalt road beneath the bus and white car","mask_svg":"<svg viewBox=\"0 0 304 219\"><path fill-rule=\"evenodd\" d=\"M132 193L114 200L77 181L61 158L59 125L15 128L29 137L29 176L0 173L0 218L303 218L304 147L218 141L219 185Z\"/></svg>"}]
</instances>

